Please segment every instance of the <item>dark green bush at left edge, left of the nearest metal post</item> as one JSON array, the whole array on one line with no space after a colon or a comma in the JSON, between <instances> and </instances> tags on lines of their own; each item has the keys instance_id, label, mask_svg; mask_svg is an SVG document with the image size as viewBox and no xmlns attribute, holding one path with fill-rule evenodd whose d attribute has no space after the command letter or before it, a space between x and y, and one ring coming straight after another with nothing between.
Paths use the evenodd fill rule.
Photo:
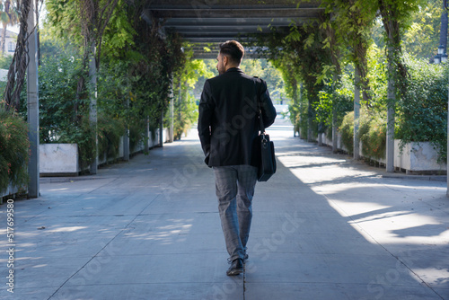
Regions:
<instances>
[{"instance_id":1,"label":"dark green bush at left edge, left of the nearest metal post","mask_svg":"<svg viewBox=\"0 0 449 300\"><path fill-rule=\"evenodd\" d=\"M28 125L17 115L0 110L0 192L10 183L22 188L28 184L30 142Z\"/></svg>"}]
</instances>

